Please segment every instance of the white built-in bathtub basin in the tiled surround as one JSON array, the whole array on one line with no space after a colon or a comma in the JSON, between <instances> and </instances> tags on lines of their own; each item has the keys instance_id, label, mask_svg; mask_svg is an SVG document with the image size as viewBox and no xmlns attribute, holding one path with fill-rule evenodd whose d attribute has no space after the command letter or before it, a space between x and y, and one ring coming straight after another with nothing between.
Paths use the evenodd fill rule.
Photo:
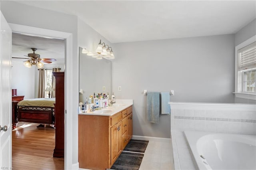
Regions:
<instances>
[{"instance_id":1,"label":"white built-in bathtub basin in the tiled surround","mask_svg":"<svg viewBox=\"0 0 256 170\"><path fill-rule=\"evenodd\" d=\"M256 135L184 131L199 170L256 170Z\"/></svg>"}]
</instances>

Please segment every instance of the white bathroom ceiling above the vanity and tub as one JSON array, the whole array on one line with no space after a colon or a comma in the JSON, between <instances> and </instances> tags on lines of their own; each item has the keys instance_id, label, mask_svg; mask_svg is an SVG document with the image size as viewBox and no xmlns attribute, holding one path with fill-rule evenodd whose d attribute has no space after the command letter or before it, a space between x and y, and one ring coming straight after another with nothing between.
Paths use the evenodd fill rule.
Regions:
<instances>
[{"instance_id":1,"label":"white bathroom ceiling above the vanity and tub","mask_svg":"<svg viewBox=\"0 0 256 170\"><path fill-rule=\"evenodd\" d=\"M16 1L78 16L112 43L234 34L256 1Z\"/></svg>"}]
</instances>

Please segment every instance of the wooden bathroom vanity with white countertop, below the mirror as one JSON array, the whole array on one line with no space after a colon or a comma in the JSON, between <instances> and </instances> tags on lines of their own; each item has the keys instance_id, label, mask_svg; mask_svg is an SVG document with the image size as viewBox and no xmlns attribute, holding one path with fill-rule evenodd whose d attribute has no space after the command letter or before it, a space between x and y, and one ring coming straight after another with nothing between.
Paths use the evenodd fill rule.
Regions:
<instances>
[{"instance_id":1,"label":"wooden bathroom vanity with white countertop, below the mirror","mask_svg":"<svg viewBox=\"0 0 256 170\"><path fill-rule=\"evenodd\" d=\"M132 100L120 101L108 108L79 113L79 168L111 168L132 138Z\"/></svg>"}]
</instances>

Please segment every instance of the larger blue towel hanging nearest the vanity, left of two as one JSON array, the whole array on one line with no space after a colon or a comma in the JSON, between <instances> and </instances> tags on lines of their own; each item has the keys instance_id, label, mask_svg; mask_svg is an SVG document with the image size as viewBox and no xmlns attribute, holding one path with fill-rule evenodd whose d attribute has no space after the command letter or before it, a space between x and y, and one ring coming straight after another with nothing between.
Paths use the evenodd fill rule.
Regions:
<instances>
[{"instance_id":1,"label":"larger blue towel hanging nearest the vanity, left of two","mask_svg":"<svg viewBox=\"0 0 256 170\"><path fill-rule=\"evenodd\" d=\"M159 123L160 96L159 92L148 92L147 94L147 121Z\"/></svg>"}]
</instances>

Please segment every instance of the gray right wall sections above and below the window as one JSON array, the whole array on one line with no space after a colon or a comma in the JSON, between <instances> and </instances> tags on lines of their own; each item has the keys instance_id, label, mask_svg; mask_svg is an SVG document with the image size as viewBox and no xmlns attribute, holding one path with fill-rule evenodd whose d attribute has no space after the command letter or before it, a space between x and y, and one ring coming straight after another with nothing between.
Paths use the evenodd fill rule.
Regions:
<instances>
[{"instance_id":1,"label":"gray right wall sections above and below the window","mask_svg":"<svg viewBox=\"0 0 256 170\"><path fill-rule=\"evenodd\" d=\"M256 19L235 34L235 46L256 35ZM256 100L235 97L235 103L256 103Z\"/></svg>"}]
</instances>

